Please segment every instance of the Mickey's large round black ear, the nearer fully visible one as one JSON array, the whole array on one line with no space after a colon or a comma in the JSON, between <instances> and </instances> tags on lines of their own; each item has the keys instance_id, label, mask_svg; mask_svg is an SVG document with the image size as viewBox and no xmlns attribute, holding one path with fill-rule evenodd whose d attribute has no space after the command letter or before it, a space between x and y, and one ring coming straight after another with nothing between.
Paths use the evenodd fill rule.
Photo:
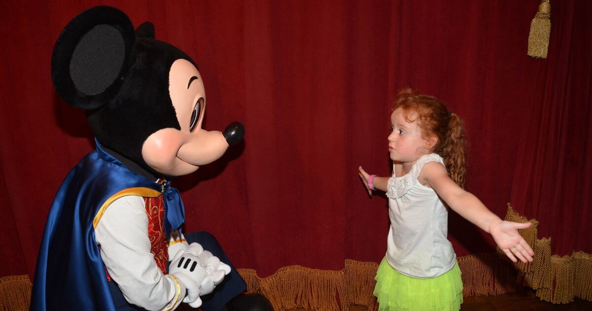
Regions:
<instances>
[{"instance_id":1,"label":"Mickey's large round black ear, the nearer fully visible one","mask_svg":"<svg viewBox=\"0 0 592 311\"><path fill-rule=\"evenodd\" d=\"M134 27L112 7L90 8L66 25L52 54L57 93L83 110L107 104L134 62Z\"/></svg>"}]
</instances>

